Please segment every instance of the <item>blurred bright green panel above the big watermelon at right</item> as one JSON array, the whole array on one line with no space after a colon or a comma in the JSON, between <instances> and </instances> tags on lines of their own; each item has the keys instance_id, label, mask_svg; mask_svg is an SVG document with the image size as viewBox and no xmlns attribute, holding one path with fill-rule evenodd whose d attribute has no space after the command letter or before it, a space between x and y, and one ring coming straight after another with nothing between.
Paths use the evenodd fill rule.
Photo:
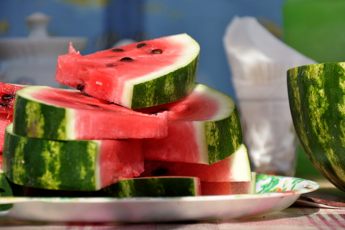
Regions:
<instances>
[{"instance_id":1,"label":"blurred bright green panel above the big watermelon at right","mask_svg":"<svg viewBox=\"0 0 345 230\"><path fill-rule=\"evenodd\" d=\"M345 61L344 12L344 0L286 0L285 43L319 63Z\"/></svg>"}]
</instances>

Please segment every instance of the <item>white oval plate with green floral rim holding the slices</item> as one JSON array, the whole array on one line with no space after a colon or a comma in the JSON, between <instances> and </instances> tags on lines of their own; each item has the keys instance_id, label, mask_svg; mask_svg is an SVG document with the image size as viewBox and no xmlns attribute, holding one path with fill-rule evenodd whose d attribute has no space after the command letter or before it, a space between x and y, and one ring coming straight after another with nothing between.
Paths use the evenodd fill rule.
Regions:
<instances>
[{"instance_id":1,"label":"white oval plate with green floral rim holding the slices","mask_svg":"<svg viewBox=\"0 0 345 230\"><path fill-rule=\"evenodd\" d=\"M230 219L267 214L293 204L319 184L292 177L257 175L256 194L176 198L2 197L13 203L0 220L47 222L158 222Z\"/></svg>"}]
</instances>

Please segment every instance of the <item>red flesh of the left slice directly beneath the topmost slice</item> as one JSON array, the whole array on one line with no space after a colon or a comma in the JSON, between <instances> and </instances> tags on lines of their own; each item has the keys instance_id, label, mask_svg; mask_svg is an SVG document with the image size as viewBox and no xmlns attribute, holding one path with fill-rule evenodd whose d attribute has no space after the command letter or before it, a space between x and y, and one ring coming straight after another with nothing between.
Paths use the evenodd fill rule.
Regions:
<instances>
[{"instance_id":1,"label":"red flesh of the left slice directly beneath the topmost slice","mask_svg":"<svg viewBox=\"0 0 345 230\"><path fill-rule=\"evenodd\" d=\"M163 138L167 136L167 112L144 114L116 104L104 104L77 90L47 87L32 98L53 106L74 109L75 139Z\"/></svg>"}]
</instances>

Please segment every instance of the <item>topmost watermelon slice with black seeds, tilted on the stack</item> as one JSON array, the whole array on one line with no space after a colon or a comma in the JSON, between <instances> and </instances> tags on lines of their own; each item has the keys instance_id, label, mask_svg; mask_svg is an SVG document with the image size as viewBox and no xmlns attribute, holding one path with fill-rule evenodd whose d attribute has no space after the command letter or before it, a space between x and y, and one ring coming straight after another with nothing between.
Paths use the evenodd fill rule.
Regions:
<instances>
[{"instance_id":1,"label":"topmost watermelon slice with black seeds, tilted on the stack","mask_svg":"<svg viewBox=\"0 0 345 230\"><path fill-rule=\"evenodd\" d=\"M70 44L55 80L131 109L180 100L193 88L199 44L177 34L82 56Z\"/></svg>"}]
</instances>

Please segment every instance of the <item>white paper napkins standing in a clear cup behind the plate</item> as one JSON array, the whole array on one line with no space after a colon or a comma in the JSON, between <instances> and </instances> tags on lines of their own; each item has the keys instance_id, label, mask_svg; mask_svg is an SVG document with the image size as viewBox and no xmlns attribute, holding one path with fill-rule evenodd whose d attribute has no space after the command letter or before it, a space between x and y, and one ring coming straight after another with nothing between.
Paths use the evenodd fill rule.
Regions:
<instances>
[{"instance_id":1,"label":"white paper napkins standing in a clear cup behind the plate","mask_svg":"<svg viewBox=\"0 0 345 230\"><path fill-rule=\"evenodd\" d=\"M253 17L234 17L223 44L252 170L294 176L297 137L286 72L316 62L287 46Z\"/></svg>"}]
</instances>

